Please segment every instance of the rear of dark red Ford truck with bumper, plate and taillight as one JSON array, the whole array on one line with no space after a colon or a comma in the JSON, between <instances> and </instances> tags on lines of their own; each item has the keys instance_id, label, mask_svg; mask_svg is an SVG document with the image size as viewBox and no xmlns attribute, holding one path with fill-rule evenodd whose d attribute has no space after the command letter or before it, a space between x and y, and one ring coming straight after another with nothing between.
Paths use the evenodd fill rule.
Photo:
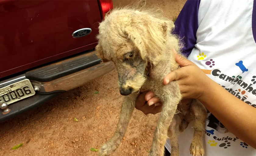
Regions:
<instances>
[{"instance_id":1,"label":"rear of dark red Ford truck with bumper, plate and taillight","mask_svg":"<svg viewBox=\"0 0 256 156\"><path fill-rule=\"evenodd\" d=\"M98 78L95 55L111 0L0 0L0 122Z\"/></svg>"}]
</instances>

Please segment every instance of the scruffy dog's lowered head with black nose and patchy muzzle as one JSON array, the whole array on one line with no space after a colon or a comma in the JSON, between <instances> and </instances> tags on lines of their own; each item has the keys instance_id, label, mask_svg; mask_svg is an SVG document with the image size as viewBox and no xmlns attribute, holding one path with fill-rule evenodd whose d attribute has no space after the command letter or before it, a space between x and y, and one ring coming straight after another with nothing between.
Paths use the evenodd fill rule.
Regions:
<instances>
[{"instance_id":1,"label":"scruffy dog's lowered head with black nose and patchy muzzle","mask_svg":"<svg viewBox=\"0 0 256 156\"><path fill-rule=\"evenodd\" d=\"M172 28L170 20L129 9L114 10L100 23L97 55L116 65L122 95L136 92L144 84L145 69L162 59Z\"/></svg>"}]
</instances>

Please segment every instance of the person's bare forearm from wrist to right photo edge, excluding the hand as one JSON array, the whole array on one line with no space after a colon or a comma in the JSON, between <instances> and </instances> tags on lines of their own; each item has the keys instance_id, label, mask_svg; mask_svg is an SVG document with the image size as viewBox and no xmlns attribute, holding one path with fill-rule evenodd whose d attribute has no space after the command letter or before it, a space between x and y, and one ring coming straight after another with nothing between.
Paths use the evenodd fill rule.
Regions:
<instances>
[{"instance_id":1,"label":"person's bare forearm from wrist to right photo edge, excluding the hand","mask_svg":"<svg viewBox=\"0 0 256 156\"><path fill-rule=\"evenodd\" d=\"M211 84L211 85L210 85ZM198 100L236 137L256 149L256 108L211 81Z\"/></svg>"}]
</instances>

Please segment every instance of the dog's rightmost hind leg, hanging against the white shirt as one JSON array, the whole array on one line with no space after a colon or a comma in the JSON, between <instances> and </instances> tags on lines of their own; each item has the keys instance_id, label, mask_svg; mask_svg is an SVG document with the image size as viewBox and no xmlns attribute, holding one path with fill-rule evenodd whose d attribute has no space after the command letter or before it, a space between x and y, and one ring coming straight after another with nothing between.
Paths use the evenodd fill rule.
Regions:
<instances>
[{"instance_id":1,"label":"dog's rightmost hind leg, hanging against the white shirt","mask_svg":"<svg viewBox=\"0 0 256 156\"><path fill-rule=\"evenodd\" d=\"M190 144L190 154L193 156L204 155L204 148L202 143L202 137L205 130L205 120L207 117L207 110L199 102L195 101L191 104L191 111L194 113L194 135Z\"/></svg>"}]
</instances>

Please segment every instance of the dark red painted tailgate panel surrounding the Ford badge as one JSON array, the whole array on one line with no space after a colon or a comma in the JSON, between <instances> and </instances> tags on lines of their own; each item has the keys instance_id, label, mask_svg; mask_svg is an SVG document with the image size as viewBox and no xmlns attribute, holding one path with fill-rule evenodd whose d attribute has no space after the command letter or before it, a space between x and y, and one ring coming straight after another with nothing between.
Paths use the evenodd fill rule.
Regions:
<instances>
[{"instance_id":1,"label":"dark red painted tailgate panel surrounding the Ford badge","mask_svg":"<svg viewBox=\"0 0 256 156\"><path fill-rule=\"evenodd\" d=\"M93 49L100 21L97 0L0 1L0 78Z\"/></svg>"}]
</instances>

